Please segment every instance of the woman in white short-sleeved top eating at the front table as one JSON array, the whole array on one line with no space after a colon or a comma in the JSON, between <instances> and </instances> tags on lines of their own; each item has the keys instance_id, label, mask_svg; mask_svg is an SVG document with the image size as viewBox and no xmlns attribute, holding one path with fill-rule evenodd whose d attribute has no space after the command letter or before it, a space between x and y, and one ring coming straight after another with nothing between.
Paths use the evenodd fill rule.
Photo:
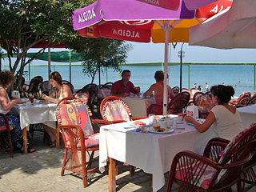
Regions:
<instances>
[{"instance_id":1,"label":"woman in white short-sleeved top eating at the front table","mask_svg":"<svg viewBox=\"0 0 256 192\"><path fill-rule=\"evenodd\" d=\"M190 116L186 116L185 121L193 123L200 133L205 132L211 126L218 137L231 140L243 130L238 110L229 105L231 96L234 95L234 88L224 85L212 86L210 93L213 106L206 104L210 110L206 122L200 124Z\"/></svg>"}]
</instances>

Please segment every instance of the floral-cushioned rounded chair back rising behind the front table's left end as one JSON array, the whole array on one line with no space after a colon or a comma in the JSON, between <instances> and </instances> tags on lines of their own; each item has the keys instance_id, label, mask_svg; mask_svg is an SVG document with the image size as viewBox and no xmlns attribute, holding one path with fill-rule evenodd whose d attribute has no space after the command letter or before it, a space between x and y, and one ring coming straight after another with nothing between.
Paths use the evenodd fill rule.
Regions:
<instances>
[{"instance_id":1,"label":"floral-cushioned rounded chair back rising behind the front table's left end","mask_svg":"<svg viewBox=\"0 0 256 192\"><path fill-rule=\"evenodd\" d=\"M100 112L102 118L106 121L130 121L131 120L131 112L129 106L122 100L122 98L118 98L116 96L109 96L102 100L100 106Z\"/></svg>"}]
</instances>

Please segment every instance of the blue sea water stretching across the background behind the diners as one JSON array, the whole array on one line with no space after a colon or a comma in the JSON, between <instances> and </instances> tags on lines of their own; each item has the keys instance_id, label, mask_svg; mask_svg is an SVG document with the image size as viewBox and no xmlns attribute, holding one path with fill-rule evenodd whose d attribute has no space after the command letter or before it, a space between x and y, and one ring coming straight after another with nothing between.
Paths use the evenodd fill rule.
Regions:
<instances>
[{"instance_id":1,"label":"blue sea water stretching across the background behind the diners","mask_svg":"<svg viewBox=\"0 0 256 192\"><path fill-rule=\"evenodd\" d=\"M41 75L44 80L48 80L48 66L30 66L30 78ZM170 66L169 68L169 85L171 87L180 85L180 66ZM91 78L82 73L83 66L71 66L71 82L75 89L82 88L91 83ZM28 66L25 70L29 71ZM58 71L63 80L70 81L70 66L52 65L52 71ZM161 66L122 66L122 70L130 70L130 81L134 86L140 86L141 91L146 91L154 80L154 73L162 70ZM189 81L190 74L190 81ZM119 74L119 79L122 78ZM29 78L26 78L29 81ZM115 82L118 80L118 72L108 69L101 73L101 84L106 82ZM94 78L94 83L98 84L98 74ZM234 87L235 95L239 96L243 91L254 93L254 66L217 66L217 65L191 65L190 73L188 66L182 66L182 87L191 89L194 83L202 86L206 90L206 82L209 86L224 83Z\"/></svg>"}]
</instances>

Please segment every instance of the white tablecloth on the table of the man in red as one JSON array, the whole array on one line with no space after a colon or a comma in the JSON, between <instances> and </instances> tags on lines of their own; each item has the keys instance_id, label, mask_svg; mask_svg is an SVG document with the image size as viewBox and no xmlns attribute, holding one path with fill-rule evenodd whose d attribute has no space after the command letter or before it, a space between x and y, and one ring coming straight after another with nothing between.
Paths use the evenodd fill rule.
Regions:
<instances>
[{"instance_id":1,"label":"white tablecloth on the table of the man in red","mask_svg":"<svg viewBox=\"0 0 256 192\"><path fill-rule=\"evenodd\" d=\"M151 105L156 103L154 98L122 98L130 108L131 114L134 117L147 117L146 110Z\"/></svg>"}]
</instances>

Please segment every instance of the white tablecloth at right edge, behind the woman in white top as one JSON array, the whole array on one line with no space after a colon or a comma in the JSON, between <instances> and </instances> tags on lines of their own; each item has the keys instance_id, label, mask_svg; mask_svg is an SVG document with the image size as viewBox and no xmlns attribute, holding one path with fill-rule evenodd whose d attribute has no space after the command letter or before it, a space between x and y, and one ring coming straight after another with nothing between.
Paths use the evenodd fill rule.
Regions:
<instances>
[{"instance_id":1,"label":"white tablecloth at right edge, behind the woman in white top","mask_svg":"<svg viewBox=\"0 0 256 192\"><path fill-rule=\"evenodd\" d=\"M238 108L244 129L249 128L250 124L256 122L256 105Z\"/></svg>"}]
</instances>

